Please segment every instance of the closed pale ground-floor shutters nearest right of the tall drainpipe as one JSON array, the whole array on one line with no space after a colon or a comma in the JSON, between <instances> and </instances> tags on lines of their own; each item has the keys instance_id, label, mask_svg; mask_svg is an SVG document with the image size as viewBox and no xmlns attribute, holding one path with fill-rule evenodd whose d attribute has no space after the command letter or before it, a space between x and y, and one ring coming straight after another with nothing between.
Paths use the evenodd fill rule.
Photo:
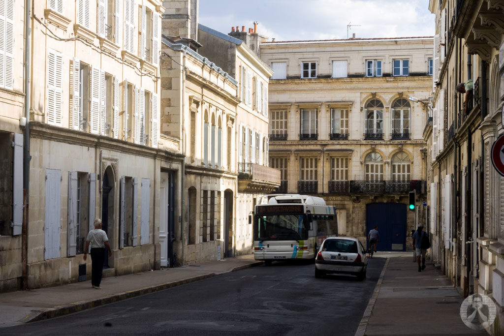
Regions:
<instances>
[{"instance_id":1,"label":"closed pale ground-floor shutters nearest right of the tall drainpipe","mask_svg":"<svg viewBox=\"0 0 504 336\"><path fill-rule=\"evenodd\" d=\"M45 173L45 223L44 259L59 258L61 231L61 171L46 169Z\"/></svg>"}]
</instances>

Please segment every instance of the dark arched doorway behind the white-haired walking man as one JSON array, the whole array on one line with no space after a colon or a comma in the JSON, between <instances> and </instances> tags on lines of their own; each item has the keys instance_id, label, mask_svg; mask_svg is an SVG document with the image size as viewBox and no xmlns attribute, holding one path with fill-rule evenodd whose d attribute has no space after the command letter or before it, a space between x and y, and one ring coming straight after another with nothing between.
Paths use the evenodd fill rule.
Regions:
<instances>
[{"instance_id":1,"label":"dark arched doorway behind the white-haired walking man","mask_svg":"<svg viewBox=\"0 0 504 336\"><path fill-rule=\"evenodd\" d=\"M114 173L112 168L108 166L103 174L102 197L101 197L101 222L102 230L106 232L108 241L114 241ZM114 248L113 243L110 248ZM105 253L103 268L109 268L111 262L108 260L108 253Z\"/></svg>"}]
</instances>

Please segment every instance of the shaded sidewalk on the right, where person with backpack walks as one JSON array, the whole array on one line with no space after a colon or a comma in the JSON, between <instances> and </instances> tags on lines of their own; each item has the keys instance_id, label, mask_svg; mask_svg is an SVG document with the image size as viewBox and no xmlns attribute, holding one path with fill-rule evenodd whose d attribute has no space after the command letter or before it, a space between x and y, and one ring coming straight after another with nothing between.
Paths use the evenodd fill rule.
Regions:
<instances>
[{"instance_id":1,"label":"shaded sidewalk on the right, where person with backpack walks","mask_svg":"<svg viewBox=\"0 0 504 336\"><path fill-rule=\"evenodd\" d=\"M387 261L356 336L488 335L485 330L472 330L462 322L460 306L464 298L428 258L425 270L419 273L411 252L407 257L385 253L375 255L387 257Z\"/></svg>"}]
</instances>

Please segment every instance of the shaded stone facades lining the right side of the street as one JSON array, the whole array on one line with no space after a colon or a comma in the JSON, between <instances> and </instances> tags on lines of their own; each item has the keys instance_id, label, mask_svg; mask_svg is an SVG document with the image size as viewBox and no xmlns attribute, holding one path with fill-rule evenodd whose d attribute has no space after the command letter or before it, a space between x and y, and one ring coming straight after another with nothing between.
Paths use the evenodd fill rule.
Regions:
<instances>
[{"instance_id":1,"label":"shaded stone facades lining the right side of the street","mask_svg":"<svg viewBox=\"0 0 504 336\"><path fill-rule=\"evenodd\" d=\"M485 294L496 304L490 334L502 333L504 318L504 177L491 160L503 122L502 5L429 2L436 31L433 118L425 133L432 143L431 253L463 296ZM469 80L474 83L469 94L457 93L457 84Z\"/></svg>"}]
</instances>

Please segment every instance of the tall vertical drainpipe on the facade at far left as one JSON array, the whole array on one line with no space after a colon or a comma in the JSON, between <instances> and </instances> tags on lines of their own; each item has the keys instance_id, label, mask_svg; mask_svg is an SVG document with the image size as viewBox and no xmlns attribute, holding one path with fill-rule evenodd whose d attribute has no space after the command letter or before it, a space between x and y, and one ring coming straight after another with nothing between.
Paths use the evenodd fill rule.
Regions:
<instances>
[{"instance_id":1,"label":"tall vertical drainpipe on the facade at far left","mask_svg":"<svg viewBox=\"0 0 504 336\"><path fill-rule=\"evenodd\" d=\"M23 134L23 201L24 201L24 216L23 216L23 229L22 229L22 288L28 289L28 205L29 202L29 187L30 187L30 98L31 98L31 0L25 0L25 66L24 66L24 113L26 118L26 125Z\"/></svg>"}]
</instances>

